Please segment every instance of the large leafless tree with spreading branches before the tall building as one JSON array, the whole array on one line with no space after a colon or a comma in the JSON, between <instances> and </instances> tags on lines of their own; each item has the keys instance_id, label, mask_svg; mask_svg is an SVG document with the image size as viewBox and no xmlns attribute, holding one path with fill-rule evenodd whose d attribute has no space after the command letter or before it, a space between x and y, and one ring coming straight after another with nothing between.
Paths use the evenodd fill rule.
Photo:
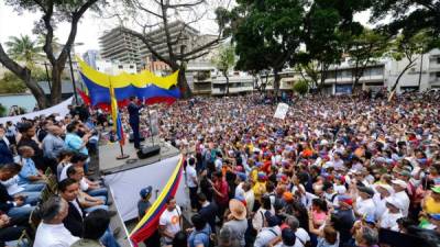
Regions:
<instances>
[{"instance_id":1,"label":"large leafless tree with spreading branches before the tall building","mask_svg":"<svg viewBox=\"0 0 440 247\"><path fill-rule=\"evenodd\" d=\"M124 0L124 3L127 12L124 15L130 16L142 31L122 29L122 32L138 37L154 59L167 64L173 72L178 70L178 87L183 97L189 98L191 90L185 77L187 63L208 55L210 49L223 40L220 24L219 34L211 38L191 34L196 32L191 25L202 21L208 12L207 1ZM156 35L158 32L163 32L163 35ZM165 49L160 47L160 44L165 44Z\"/></svg>"}]
</instances>

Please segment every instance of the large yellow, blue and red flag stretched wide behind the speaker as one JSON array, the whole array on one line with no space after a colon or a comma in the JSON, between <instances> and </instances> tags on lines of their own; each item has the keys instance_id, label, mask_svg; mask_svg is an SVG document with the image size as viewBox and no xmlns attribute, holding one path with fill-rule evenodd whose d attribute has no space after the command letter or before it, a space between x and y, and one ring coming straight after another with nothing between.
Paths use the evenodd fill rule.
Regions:
<instances>
[{"instance_id":1,"label":"large yellow, blue and red flag stretched wide behind the speaker","mask_svg":"<svg viewBox=\"0 0 440 247\"><path fill-rule=\"evenodd\" d=\"M81 68L79 74L87 86L90 104L94 106L111 103L110 81L118 102L133 96L145 99L146 102L170 102L180 98L180 91L177 88L178 71L167 77L157 77L146 70L136 75L122 72L118 76L109 76L92 69L79 58L77 60Z\"/></svg>"}]
</instances>

